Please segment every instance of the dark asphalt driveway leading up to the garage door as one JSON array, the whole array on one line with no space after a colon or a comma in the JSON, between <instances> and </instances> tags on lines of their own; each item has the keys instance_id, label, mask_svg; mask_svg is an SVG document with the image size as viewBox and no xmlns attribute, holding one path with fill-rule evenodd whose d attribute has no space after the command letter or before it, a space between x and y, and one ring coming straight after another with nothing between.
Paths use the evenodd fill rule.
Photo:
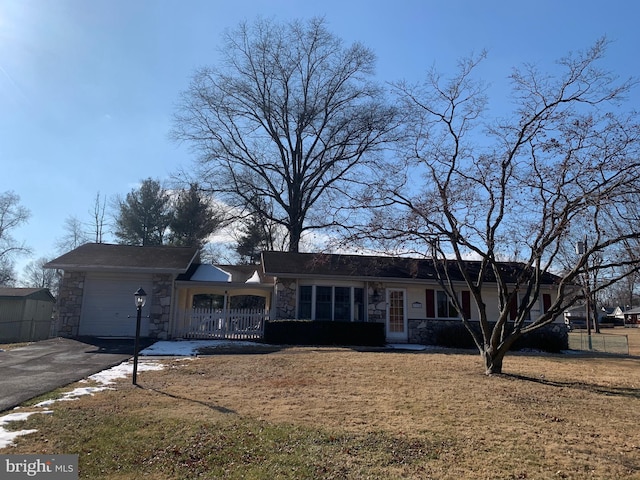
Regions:
<instances>
[{"instance_id":1,"label":"dark asphalt driveway leading up to the garage door","mask_svg":"<svg viewBox=\"0 0 640 480\"><path fill-rule=\"evenodd\" d=\"M132 356L133 339L52 338L0 352L0 412Z\"/></svg>"}]
</instances>

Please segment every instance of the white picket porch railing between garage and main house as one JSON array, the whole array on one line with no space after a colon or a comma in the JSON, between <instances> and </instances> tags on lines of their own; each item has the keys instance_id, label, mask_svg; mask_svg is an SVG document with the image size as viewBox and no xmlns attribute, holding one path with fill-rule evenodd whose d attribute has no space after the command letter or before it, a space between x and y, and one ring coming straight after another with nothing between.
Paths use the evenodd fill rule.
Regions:
<instances>
[{"instance_id":1,"label":"white picket porch railing between garage and main house","mask_svg":"<svg viewBox=\"0 0 640 480\"><path fill-rule=\"evenodd\" d=\"M215 309L194 308L182 314L181 338L261 339L269 311L261 308Z\"/></svg>"}]
</instances>

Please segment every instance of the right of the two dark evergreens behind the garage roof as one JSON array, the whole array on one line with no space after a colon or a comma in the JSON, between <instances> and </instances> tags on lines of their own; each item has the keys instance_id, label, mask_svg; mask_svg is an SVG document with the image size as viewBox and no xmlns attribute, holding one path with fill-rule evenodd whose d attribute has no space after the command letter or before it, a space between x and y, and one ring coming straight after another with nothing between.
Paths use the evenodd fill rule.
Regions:
<instances>
[{"instance_id":1,"label":"right of the two dark evergreens behind the garage roof","mask_svg":"<svg viewBox=\"0 0 640 480\"><path fill-rule=\"evenodd\" d=\"M189 190L178 196L173 208L169 228L173 245L202 248L207 238L222 225L222 215L214 212L202 196L198 185L192 183Z\"/></svg>"}]
</instances>

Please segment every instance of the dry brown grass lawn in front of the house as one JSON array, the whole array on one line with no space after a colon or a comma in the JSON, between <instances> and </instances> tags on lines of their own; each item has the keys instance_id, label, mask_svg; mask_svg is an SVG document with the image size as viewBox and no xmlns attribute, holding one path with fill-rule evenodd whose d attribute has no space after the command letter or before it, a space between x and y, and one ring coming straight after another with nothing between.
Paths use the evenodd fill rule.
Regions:
<instances>
[{"instance_id":1,"label":"dry brown grass lawn in front of the house","mask_svg":"<svg viewBox=\"0 0 640 480\"><path fill-rule=\"evenodd\" d=\"M625 333L634 336L630 344L640 338ZM637 357L514 354L505 360L507 373L494 377L483 374L479 356L454 352L289 348L166 362L163 371L140 374L141 389L122 382L115 391L57 404L52 416L32 417L39 433L0 452L80 448L81 465L88 465L94 447L71 447L70 439L83 428L100 435L99 422L126 417L140 424L136 438L167 455L166 433L154 433L152 418L171 428L222 429L226 442L224 422L246 420L329 439L329 449L314 440L305 454L313 474L274 478L640 479ZM82 424L63 434L56 418ZM244 461L244 471L240 464L203 478L260 478L247 474L252 460ZM139 476L107 466L95 478L191 478L145 465Z\"/></svg>"}]
</instances>

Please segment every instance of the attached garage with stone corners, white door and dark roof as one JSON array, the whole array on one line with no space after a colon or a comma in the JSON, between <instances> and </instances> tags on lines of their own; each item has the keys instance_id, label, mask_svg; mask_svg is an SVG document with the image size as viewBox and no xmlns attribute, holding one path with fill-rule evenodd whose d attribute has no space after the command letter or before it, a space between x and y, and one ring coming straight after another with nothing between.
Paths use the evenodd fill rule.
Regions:
<instances>
[{"instance_id":1,"label":"attached garage with stone corners, white door and dark roof","mask_svg":"<svg viewBox=\"0 0 640 480\"><path fill-rule=\"evenodd\" d=\"M142 287L141 335L171 334L176 278L198 261L195 247L138 247L88 243L45 265L63 272L56 334L64 337L133 337L134 292Z\"/></svg>"}]
</instances>

